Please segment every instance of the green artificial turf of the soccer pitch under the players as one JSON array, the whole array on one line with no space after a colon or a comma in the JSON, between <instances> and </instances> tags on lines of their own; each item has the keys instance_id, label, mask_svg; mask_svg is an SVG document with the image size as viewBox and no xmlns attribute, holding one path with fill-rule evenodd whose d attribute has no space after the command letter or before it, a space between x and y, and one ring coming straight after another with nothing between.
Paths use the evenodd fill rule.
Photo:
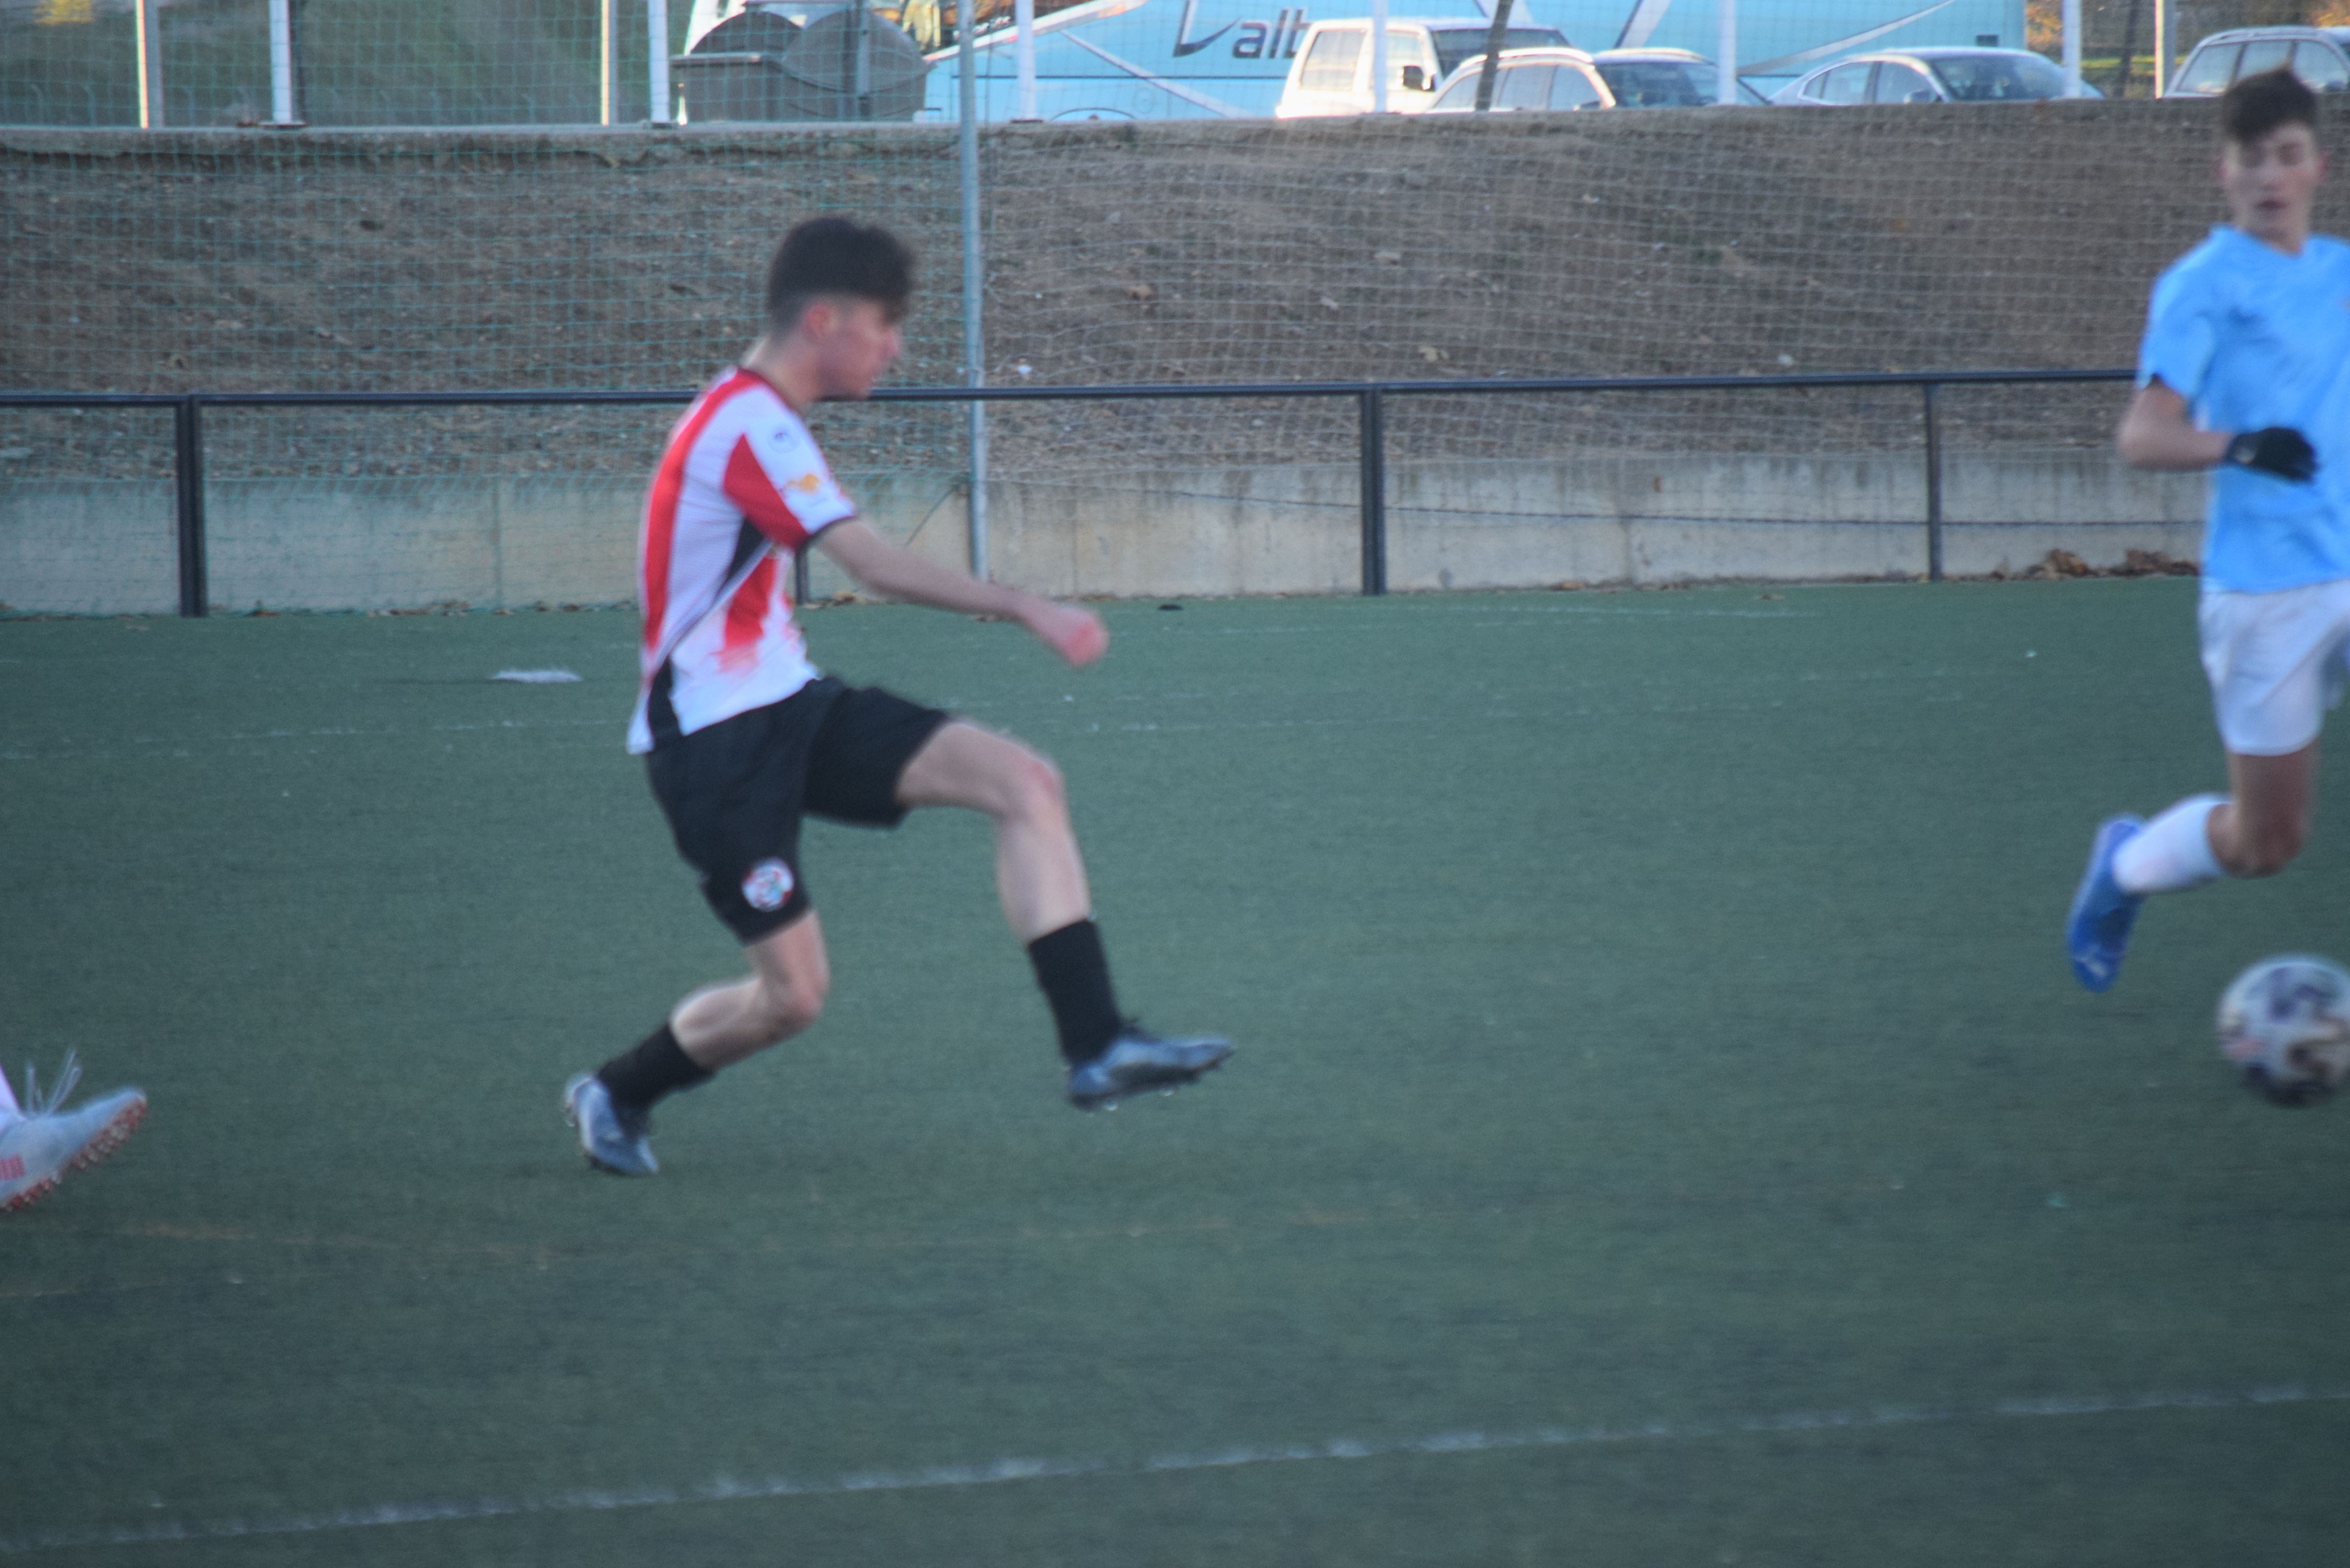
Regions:
<instances>
[{"instance_id":1,"label":"green artificial turf of the soccer pitch under the players","mask_svg":"<svg viewBox=\"0 0 2350 1568\"><path fill-rule=\"evenodd\" d=\"M2341 837L2059 945L2221 778L2193 583L1107 616L808 621L1062 762L1234 1063L1067 1110L985 825L813 825L832 1009L646 1182L557 1093L736 957L632 618L0 623L0 1058L153 1095L0 1220L0 1559L2338 1552L2350 1112L2207 1034L2350 947Z\"/></svg>"}]
</instances>

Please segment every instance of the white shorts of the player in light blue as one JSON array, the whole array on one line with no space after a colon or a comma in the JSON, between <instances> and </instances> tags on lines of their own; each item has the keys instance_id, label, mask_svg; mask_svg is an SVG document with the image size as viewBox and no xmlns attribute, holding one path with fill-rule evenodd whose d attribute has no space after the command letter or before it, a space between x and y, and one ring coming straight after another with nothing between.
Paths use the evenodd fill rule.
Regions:
<instances>
[{"instance_id":1,"label":"white shorts of the player in light blue","mask_svg":"<svg viewBox=\"0 0 2350 1568\"><path fill-rule=\"evenodd\" d=\"M2350 679L2350 578L2275 592L2204 588L2195 623L2230 752L2284 757L2317 738Z\"/></svg>"}]
</instances>

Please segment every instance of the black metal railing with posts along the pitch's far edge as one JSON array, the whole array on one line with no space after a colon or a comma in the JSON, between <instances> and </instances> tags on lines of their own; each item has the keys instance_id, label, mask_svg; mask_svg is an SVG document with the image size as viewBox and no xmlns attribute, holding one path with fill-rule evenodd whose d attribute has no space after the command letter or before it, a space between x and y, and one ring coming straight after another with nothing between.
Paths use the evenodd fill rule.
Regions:
<instances>
[{"instance_id":1,"label":"black metal railing with posts along the pitch's far edge","mask_svg":"<svg viewBox=\"0 0 2350 1568\"><path fill-rule=\"evenodd\" d=\"M1142 397L1351 397L1361 440L1363 592L1386 592L1386 400L1523 393L1744 393L1791 388L1918 388L1925 421L1927 576L1941 581L1941 402L1946 386L2044 386L2129 381L2127 369L1953 369L1953 371L1826 371L1777 376L1502 376L1483 381L1217 381L1156 386L891 386L872 402L1130 402ZM202 616L204 576L204 409L275 407L590 407L684 404L684 390L580 393L0 393L0 409L172 409L172 480L179 522L179 614ZM806 557L797 562L806 597Z\"/></svg>"}]
</instances>

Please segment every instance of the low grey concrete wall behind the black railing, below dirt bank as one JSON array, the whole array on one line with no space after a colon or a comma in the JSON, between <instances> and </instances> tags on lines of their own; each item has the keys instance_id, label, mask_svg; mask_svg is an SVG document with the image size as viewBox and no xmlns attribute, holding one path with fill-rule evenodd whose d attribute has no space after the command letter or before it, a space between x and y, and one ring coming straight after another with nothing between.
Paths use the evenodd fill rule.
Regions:
<instances>
[{"instance_id":1,"label":"low grey concrete wall behind the black railing, below dirt bank","mask_svg":"<svg viewBox=\"0 0 2350 1568\"><path fill-rule=\"evenodd\" d=\"M855 477L884 534L961 564L968 520L947 473ZM240 611L423 604L604 604L632 595L634 487L559 480L228 480L207 491L212 602ZM2197 552L2202 480L2110 451L1953 454L1943 564L2021 571L2052 548L2092 567ZM1389 585L1535 588L1708 578L1887 578L1925 571L1913 454L1617 454L1398 463ZM994 576L1053 595L1351 592L1351 463L1198 468L989 484ZM0 487L0 602L19 611L167 611L167 482ZM848 583L818 559L815 592Z\"/></svg>"}]
</instances>

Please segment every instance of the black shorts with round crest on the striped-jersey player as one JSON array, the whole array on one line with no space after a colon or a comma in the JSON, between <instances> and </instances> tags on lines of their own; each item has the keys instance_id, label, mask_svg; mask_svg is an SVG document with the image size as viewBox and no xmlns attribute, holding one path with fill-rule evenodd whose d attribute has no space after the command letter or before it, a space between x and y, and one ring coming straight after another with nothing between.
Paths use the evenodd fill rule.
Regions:
<instances>
[{"instance_id":1,"label":"black shorts with round crest on the striped-jersey player","mask_svg":"<svg viewBox=\"0 0 2350 1568\"><path fill-rule=\"evenodd\" d=\"M644 762L677 853L750 945L808 910L799 818L895 827L898 776L952 717L820 677L780 703L660 741Z\"/></svg>"}]
</instances>

